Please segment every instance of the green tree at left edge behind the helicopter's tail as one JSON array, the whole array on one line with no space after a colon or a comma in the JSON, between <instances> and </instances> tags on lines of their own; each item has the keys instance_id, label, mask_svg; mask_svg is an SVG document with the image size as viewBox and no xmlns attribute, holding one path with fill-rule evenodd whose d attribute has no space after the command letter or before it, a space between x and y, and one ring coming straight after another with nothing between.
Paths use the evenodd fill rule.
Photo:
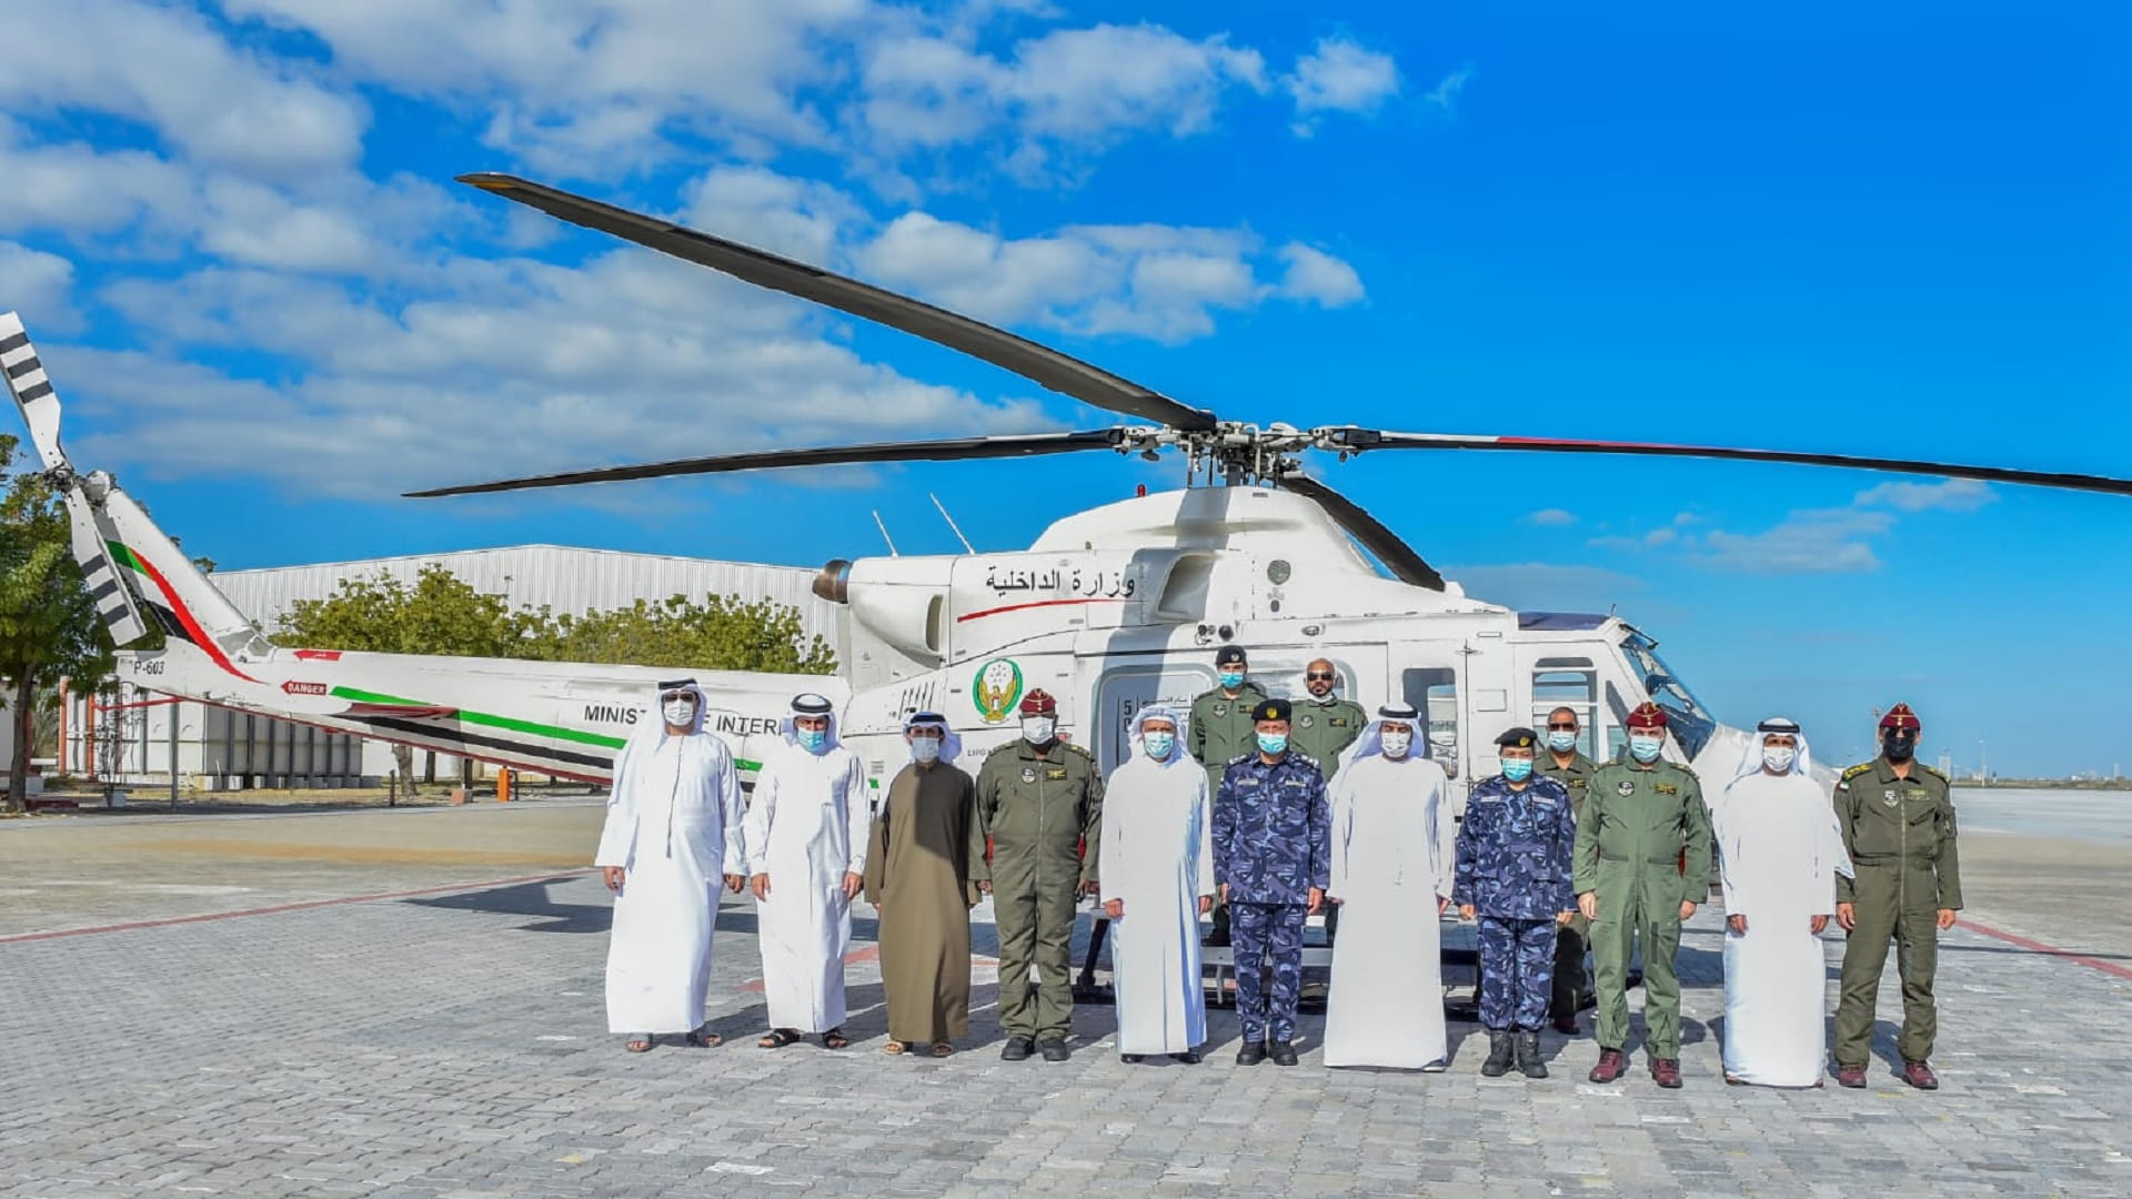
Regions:
<instances>
[{"instance_id":1,"label":"green tree at left edge behind the helicopter's tail","mask_svg":"<svg viewBox=\"0 0 2132 1199\"><path fill-rule=\"evenodd\" d=\"M0 471L19 442L0 435ZM107 678L111 636L81 585L64 497L41 474L17 474L0 497L0 685L15 725L6 811L21 811L36 742L36 700L60 678Z\"/></svg>"}]
</instances>

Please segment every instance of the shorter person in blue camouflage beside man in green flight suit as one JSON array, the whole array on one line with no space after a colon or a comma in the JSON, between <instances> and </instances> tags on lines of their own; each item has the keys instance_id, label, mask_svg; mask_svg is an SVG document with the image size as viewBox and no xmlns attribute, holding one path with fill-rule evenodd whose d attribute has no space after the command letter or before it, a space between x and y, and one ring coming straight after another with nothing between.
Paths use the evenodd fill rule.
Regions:
<instances>
[{"instance_id":1,"label":"shorter person in blue camouflage beside man in green flight suit","mask_svg":"<svg viewBox=\"0 0 2132 1199\"><path fill-rule=\"evenodd\" d=\"M1524 1077L1548 1077L1539 1060L1539 1022L1554 979L1554 930L1569 920L1569 851L1578 826L1569 792L1533 774L1537 736L1514 728L1495 738L1503 772L1482 779L1458 826L1458 875L1452 902L1480 922L1480 1022L1488 1060L1480 1073L1503 1077L1516 1054Z\"/></svg>"}]
</instances>

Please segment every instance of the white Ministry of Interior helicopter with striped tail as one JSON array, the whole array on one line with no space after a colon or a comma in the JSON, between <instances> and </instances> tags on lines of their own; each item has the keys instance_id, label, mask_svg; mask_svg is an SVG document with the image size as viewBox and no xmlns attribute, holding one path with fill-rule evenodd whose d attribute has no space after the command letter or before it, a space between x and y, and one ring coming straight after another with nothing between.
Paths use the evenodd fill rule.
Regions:
<instances>
[{"instance_id":1,"label":"white Ministry of Interior helicopter with striped tail","mask_svg":"<svg viewBox=\"0 0 2132 1199\"><path fill-rule=\"evenodd\" d=\"M846 463L1068 452L1183 457L1183 489L1066 514L1023 550L823 565L814 593L840 606L838 674L695 674L710 702L706 728L729 745L744 781L780 742L778 721L802 691L831 700L840 736L861 755L876 789L902 768L902 725L910 713L942 713L983 753L1017 736L1017 704L1038 687L1057 700L1060 728L1109 770L1126 755L1134 713L1156 702L1183 708L1213 687L1213 659L1224 644L1247 649L1254 678L1269 693L1301 696L1305 666L1328 659L1350 698L1367 706L1405 702L1424 713L1426 753L1454 779L1454 800L1463 800L1471 779L1492 774L1492 740L1501 730L1544 723L1565 706L1578 713L1580 749L1593 757L1618 753L1629 713L1650 700L1669 717L1669 760L1718 770L1738 762L1748 734L1710 715L1659 657L1652 636L1616 614L1518 612L1467 595L1399 533L1305 474L1311 452L1341 463L1394 450L1697 457L2132 495L2132 480L2121 478L1857 454L1356 425L1258 427L968 316L738 241L512 175L478 173L461 181L959 350L1132 422L610 465L409 497ZM64 495L75 557L113 642L139 640L149 621L166 634L160 651L124 653L122 678L168 696L588 783L608 783L635 723L652 719L646 700L659 678L674 674L669 668L273 644L107 471L75 469L60 444L60 399L15 314L0 316L0 367L45 474Z\"/></svg>"}]
</instances>

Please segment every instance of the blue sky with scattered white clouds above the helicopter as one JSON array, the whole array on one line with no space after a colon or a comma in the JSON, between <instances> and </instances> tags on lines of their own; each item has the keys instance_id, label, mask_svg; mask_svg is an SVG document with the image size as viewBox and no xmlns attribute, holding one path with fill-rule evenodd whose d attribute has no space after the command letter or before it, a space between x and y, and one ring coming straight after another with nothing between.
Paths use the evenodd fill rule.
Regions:
<instances>
[{"instance_id":1,"label":"blue sky with scattered white clouds above the helicopter","mask_svg":"<svg viewBox=\"0 0 2132 1199\"><path fill-rule=\"evenodd\" d=\"M0 307L79 461L224 567L1028 544L1104 457L401 501L1094 427L507 211L514 171L915 290L1243 420L2132 474L2121 6L0 0ZM23 70L21 64L38 64ZM1322 463L1475 595L1650 629L1823 757L2132 764L2132 501L1642 459ZM1893 486L1891 486L1893 484Z\"/></svg>"}]
</instances>

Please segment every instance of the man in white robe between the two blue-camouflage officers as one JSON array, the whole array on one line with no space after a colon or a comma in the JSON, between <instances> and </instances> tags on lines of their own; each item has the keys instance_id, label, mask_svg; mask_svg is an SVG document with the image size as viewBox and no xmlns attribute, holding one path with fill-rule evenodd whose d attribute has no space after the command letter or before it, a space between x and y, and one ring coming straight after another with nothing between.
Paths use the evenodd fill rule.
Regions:
<instances>
[{"instance_id":1,"label":"man in white robe between the two blue-camouflage officers","mask_svg":"<svg viewBox=\"0 0 2132 1199\"><path fill-rule=\"evenodd\" d=\"M1443 768L1416 753L1422 715L1377 708L1332 783L1332 885L1341 934L1326 998L1328 1067L1441 1071L1439 924L1456 824Z\"/></svg>"}]
</instances>

